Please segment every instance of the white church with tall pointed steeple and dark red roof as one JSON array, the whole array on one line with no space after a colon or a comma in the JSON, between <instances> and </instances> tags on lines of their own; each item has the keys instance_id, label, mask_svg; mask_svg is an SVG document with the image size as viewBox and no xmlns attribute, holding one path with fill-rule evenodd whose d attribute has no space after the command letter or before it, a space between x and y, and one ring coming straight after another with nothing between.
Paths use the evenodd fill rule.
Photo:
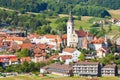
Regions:
<instances>
[{"instance_id":1,"label":"white church with tall pointed steeple and dark red roof","mask_svg":"<svg viewBox=\"0 0 120 80\"><path fill-rule=\"evenodd\" d=\"M67 47L79 47L88 49L88 44L92 39L93 37L89 32L74 29L74 20L70 12L67 22Z\"/></svg>"}]
</instances>

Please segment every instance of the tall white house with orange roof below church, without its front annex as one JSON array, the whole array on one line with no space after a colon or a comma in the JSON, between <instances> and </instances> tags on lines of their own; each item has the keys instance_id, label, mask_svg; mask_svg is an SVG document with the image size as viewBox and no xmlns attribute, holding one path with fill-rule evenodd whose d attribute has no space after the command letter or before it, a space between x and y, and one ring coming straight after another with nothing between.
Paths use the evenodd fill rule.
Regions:
<instances>
[{"instance_id":1,"label":"tall white house with orange roof below church, without its front annex","mask_svg":"<svg viewBox=\"0 0 120 80\"><path fill-rule=\"evenodd\" d=\"M68 56L68 55L70 55L70 56L72 56L71 60L73 62L74 61L76 62L76 61L79 60L78 57L79 57L80 54L81 54L81 52L78 51L77 49L67 47L67 48L63 49L62 53L59 53L59 56Z\"/></svg>"}]
</instances>

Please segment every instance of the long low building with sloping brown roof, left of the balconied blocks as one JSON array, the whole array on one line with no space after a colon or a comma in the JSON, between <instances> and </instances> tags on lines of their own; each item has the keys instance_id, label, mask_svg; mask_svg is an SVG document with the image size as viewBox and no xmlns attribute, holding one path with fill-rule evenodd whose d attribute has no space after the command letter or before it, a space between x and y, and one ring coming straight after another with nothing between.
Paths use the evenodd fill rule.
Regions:
<instances>
[{"instance_id":1,"label":"long low building with sloping brown roof, left of the balconied blocks","mask_svg":"<svg viewBox=\"0 0 120 80\"><path fill-rule=\"evenodd\" d=\"M53 63L48 66L40 68L40 73L50 73L55 75L61 76L72 76L72 66L60 64L60 63Z\"/></svg>"}]
</instances>

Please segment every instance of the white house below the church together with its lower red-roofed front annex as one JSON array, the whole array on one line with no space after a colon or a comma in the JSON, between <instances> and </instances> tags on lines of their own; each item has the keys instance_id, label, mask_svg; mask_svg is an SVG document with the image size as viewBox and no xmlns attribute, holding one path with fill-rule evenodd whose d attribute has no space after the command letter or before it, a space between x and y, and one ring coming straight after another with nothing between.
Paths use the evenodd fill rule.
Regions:
<instances>
[{"instance_id":1,"label":"white house below the church together with its lower red-roofed front annex","mask_svg":"<svg viewBox=\"0 0 120 80\"><path fill-rule=\"evenodd\" d=\"M66 63L68 63L67 61L69 60L70 62L76 62L78 61L78 57L81 54L80 51L78 51L75 48L65 48L62 53L59 53L60 56L60 60L65 61Z\"/></svg>"}]
</instances>

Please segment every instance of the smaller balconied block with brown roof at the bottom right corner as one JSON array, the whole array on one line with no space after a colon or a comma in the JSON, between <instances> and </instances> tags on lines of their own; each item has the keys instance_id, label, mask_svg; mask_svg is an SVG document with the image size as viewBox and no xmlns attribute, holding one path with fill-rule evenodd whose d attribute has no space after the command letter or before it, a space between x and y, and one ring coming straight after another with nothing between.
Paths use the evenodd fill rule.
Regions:
<instances>
[{"instance_id":1,"label":"smaller balconied block with brown roof at the bottom right corner","mask_svg":"<svg viewBox=\"0 0 120 80\"><path fill-rule=\"evenodd\" d=\"M116 64L108 64L102 68L102 76L117 76L118 69Z\"/></svg>"}]
</instances>

